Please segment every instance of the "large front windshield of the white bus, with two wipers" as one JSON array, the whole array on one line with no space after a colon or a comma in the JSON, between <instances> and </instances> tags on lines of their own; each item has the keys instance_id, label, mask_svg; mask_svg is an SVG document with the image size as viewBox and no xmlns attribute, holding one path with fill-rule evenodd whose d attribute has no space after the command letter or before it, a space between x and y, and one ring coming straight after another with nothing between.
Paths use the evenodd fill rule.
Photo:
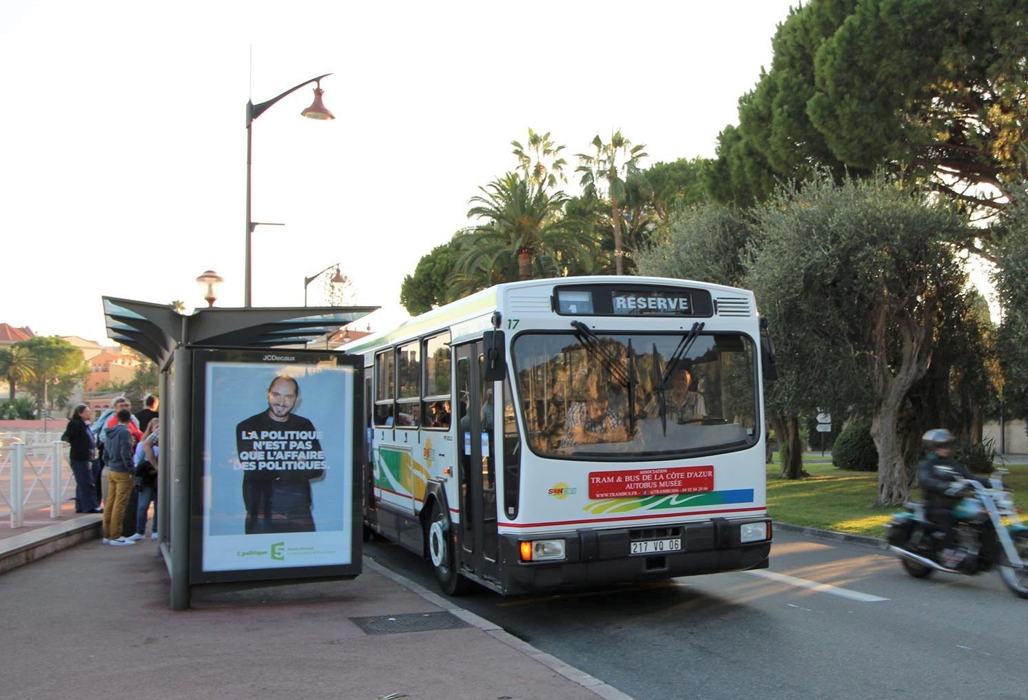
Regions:
<instances>
[{"instance_id":1,"label":"large front windshield of the white bus, with two wipers","mask_svg":"<svg viewBox=\"0 0 1028 700\"><path fill-rule=\"evenodd\" d=\"M732 332L519 334L512 364L526 443L542 456L628 460L757 443L752 340Z\"/></svg>"}]
</instances>

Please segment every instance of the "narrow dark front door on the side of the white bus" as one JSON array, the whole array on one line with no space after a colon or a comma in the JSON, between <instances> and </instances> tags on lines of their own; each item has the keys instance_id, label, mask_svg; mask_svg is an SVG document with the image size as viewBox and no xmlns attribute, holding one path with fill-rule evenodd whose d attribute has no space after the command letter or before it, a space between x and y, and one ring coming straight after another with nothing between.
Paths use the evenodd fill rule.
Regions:
<instances>
[{"instance_id":1,"label":"narrow dark front door on the side of the white bus","mask_svg":"<svg viewBox=\"0 0 1028 700\"><path fill-rule=\"evenodd\" d=\"M482 342L456 348L461 454L462 561L485 579L498 578L497 459L492 382L483 379Z\"/></svg>"}]
</instances>

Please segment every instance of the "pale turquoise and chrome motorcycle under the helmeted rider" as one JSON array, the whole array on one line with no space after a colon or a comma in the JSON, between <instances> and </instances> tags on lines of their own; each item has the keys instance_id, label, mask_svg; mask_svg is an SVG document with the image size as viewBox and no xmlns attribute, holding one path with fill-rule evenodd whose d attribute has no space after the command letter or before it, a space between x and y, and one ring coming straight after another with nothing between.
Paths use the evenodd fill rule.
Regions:
<instances>
[{"instance_id":1,"label":"pale turquoise and chrome motorcycle under the helmeted rider","mask_svg":"<svg viewBox=\"0 0 1028 700\"><path fill-rule=\"evenodd\" d=\"M889 550L900 555L904 568L912 577L923 579L933 572L975 576L997 568L1006 587L1016 595L1028 598L1028 526L1018 521L1018 511L1002 477L1006 470L996 470L989 485L958 479L954 491L963 498L954 509L956 522L953 543L959 563L947 566L943 557L946 532L928 520L924 504L907 503L885 526Z\"/></svg>"}]
</instances>

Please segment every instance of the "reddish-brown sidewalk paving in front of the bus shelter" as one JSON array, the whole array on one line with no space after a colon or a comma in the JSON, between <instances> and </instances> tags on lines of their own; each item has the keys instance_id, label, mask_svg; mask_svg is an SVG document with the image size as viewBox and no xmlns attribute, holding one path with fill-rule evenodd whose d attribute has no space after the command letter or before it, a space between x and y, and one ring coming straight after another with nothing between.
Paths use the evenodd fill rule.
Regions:
<instances>
[{"instance_id":1,"label":"reddish-brown sidewalk paving in front of the bus shelter","mask_svg":"<svg viewBox=\"0 0 1028 700\"><path fill-rule=\"evenodd\" d=\"M368 558L353 581L199 588L174 613L156 543L102 545L98 522L0 528L0 547L80 540L0 574L4 697L631 700Z\"/></svg>"}]
</instances>

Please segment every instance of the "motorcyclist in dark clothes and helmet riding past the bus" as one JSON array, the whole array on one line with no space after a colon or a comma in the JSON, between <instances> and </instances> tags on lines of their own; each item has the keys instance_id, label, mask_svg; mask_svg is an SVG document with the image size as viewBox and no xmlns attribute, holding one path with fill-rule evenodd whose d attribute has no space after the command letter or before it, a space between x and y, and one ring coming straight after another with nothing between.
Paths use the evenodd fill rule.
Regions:
<instances>
[{"instance_id":1,"label":"motorcyclist in dark clothes and helmet riding past the bus","mask_svg":"<svg viewBox=\"0 0 1028 700\"><path fill-rule=\"evenodd\" d=\"M965 552L954 546L956 532L953 529L956 522L954 509L967 488L962 480L980 481L988 485L987 480L976 477L953 458L953 434L945 428L928 431L921 438L927 455L917 466L917 479L924 493L925 514L945 533L943 565L947 568L957 568L965 555Z\"/></svg>"}]
</instances>

